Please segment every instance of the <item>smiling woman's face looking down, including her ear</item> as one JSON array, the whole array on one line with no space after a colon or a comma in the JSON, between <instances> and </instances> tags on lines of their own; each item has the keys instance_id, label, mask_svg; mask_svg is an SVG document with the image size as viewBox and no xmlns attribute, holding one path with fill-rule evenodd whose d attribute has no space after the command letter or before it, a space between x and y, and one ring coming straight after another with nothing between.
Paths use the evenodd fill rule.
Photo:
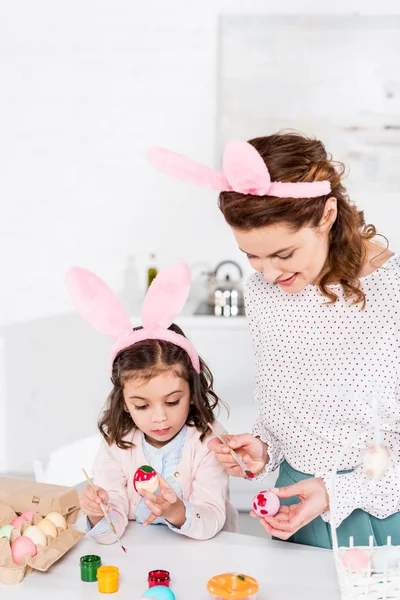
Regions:
<instances>
[{"instance_id":1,"label":"smiling woman's face looking down, including her ear","mask_svg":"<svg viewBox=\"0 0 400 600\"><path fill-rule=\"evenodd\" d=\"M318 283L328 256L328 234L336 219L336 200L330 200L317 228L302 227L293 232L283 223L250 231L232 228L240 250L265 281L279 285L288 294Z\"/></svg>"}]
</instances>

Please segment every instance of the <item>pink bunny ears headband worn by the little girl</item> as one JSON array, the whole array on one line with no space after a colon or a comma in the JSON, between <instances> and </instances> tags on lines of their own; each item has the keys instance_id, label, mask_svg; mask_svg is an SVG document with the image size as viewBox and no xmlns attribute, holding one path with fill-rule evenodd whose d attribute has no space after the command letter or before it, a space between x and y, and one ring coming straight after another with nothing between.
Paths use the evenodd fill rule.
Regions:
<instances>
[{"instance_id":1,"label":"pink bunny ears headband worn by the little girl","mask_svg":"<svg viewBox=\"0 0 400 600\"><path fill-rule=\"evenodd\" d=\"M73 267L66 284L78 313L103 335L115 339L110 370L119 352L143 340L164 340L180 346L200 373L199 356L183 335L168 327L185 305L190 290L190 271L186 263L164 269L149 287L142 307L143 329L132 330L128 314L116 295L91 271Z\"/></svg>"}]
</instances>

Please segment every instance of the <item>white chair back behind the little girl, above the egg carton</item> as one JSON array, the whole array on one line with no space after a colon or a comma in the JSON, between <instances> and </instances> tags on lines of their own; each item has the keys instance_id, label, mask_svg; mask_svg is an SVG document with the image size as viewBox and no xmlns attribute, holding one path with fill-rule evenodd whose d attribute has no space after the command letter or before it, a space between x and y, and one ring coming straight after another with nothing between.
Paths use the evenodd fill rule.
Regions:
<instances>
[{"instance_id":1,"label":"white chair back behind the little girl, above the egg carton","mask_svg":"<svg viewBox=\"0 0 400 600\"><path fill-rule=\"evenodd\" d=\"M76 486L85 476L82 468L92 475L94 459L99 450L102 438L100 434L78 440L62 446L45 460L33 461L36 481L55 485Z\"/></svg>"}]
</instances>

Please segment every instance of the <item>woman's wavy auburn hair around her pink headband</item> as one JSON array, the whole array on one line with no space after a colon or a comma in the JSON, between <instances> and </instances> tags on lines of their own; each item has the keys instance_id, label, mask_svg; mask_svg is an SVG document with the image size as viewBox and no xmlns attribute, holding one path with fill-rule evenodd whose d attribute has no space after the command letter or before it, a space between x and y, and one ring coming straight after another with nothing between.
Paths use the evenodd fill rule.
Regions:
<instances>
[{"instance_id":1,"label":"woman's wavy auburn hair around her pink headband","mask_svg":"<svg viewBox=\"0 0 400 600\"><path fill-rule=\"evenodd\" d=\"M219 207L226 221L245 231L276 223L285 223L294 231L317 227L326 200L337 200L337 218L330 231L327 263L319 281L321 293L335 302L338 296L327 287L340 282L348 297L365 306L359 273L365 260L365 242L376 236L373 225L366 225L364 213L354 206L342 185L344 165L334 162L319 140L297 132L277 133L249 141L263 158L271 181L324 181L331 183L331 193L319 198L275 198L222 192Z\"/></svg>"}]
</instances>

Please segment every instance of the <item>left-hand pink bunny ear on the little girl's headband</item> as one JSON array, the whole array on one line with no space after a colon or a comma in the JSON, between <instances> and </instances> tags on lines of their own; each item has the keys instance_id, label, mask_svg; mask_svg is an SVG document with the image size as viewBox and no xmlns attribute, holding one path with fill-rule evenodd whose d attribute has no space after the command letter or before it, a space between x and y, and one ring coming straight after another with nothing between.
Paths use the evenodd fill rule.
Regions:
<instances>
[{"instance_id":1,"label":"left-hand pink bunny ear on the little girl's headband","mask_svg":"<svg viewBox=\"0 0 400 600\"><path fill-rule=\"evenodd\" d=\"M112 338L132 331L128 314L110 288L91 271L73 267L66 284L78 313L97 331Z\"/></svg>"}]
</instances>

